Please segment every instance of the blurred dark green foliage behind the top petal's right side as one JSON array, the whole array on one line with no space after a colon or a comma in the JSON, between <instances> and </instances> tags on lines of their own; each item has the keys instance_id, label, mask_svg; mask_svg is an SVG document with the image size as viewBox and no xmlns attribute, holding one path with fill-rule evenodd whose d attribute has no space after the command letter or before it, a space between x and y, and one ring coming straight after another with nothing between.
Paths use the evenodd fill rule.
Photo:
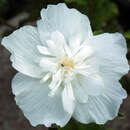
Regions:
<instances>
[{"instance_id":1,"label":"blurred dark green foliage behind the top petal's right side","mask_svg":"<svg viewBox=\"0 0 130 130\"><path fill-rule=\"evenodd\" d=\"M116 5L110 0L65 0L69 4L75 3L77 8L88 15L94 30L109 28L113 19L118 16ZM111 22L111 24L109 24ZM108 26L109 25L109 26ZM112 27L115 28L115 27ZM116 29L112 29L113 31Z\"/></svg>"}]
</instances>

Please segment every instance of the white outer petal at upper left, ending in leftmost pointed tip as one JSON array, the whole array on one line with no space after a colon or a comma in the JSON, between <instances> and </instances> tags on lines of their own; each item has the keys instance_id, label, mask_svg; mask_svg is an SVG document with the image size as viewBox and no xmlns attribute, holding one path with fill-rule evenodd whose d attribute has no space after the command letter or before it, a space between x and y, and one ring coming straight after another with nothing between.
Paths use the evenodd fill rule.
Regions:
<instances>
[{"instance_id":1,"label":"white outer petal at upper left, ending in leftmost pointed tip","mask_svg":"<svg viewBox=\"0 0 130 130\"><path fill-rule=\"evenodd\" d=\"M37 29L31 26L22 27L2 40L2 45L12 53L13 67L32 77L41 77L42 73L35 63L35 59L39 57L36 46L40 44Z\"/></svg>"}]
</instances>

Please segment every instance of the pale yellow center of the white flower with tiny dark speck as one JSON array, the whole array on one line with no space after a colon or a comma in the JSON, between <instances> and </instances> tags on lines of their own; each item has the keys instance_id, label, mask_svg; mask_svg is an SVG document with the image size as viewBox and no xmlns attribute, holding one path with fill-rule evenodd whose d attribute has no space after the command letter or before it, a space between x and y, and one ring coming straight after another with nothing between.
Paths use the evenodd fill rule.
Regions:
<instances>
[{"instance_id":1,"label":"pale yellow center of the white flower with tiny dark speck","mask_svg":"<svg viewBox=\"0 0 130 130\"><path fill-rule=\"evenodd\" d=\"M67 56L64 56L60 65L61 65L61 67L65 67L67 69L74 69L74 63L73 63L72 59Z\"/></svg>"}]
</instances>

